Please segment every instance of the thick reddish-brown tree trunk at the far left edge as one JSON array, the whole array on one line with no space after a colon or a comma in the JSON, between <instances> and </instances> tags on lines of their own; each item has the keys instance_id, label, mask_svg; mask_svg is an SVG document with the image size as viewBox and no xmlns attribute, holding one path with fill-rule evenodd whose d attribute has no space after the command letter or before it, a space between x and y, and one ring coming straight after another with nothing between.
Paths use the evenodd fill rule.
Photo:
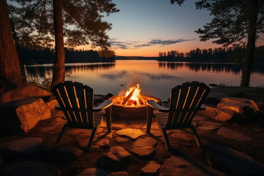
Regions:
<instances>
[{"instance_id":1,"label":"thick reddish-brown tree trunk at the far left edge","mask_svg":"<svg viewBox=\"0 0 264 176\"><path fill-rule=\"evenodd\" d=\"M19 59L14 43L6 0L0 0L0 77L22 82Z\"/></svg>"}]
</instances>

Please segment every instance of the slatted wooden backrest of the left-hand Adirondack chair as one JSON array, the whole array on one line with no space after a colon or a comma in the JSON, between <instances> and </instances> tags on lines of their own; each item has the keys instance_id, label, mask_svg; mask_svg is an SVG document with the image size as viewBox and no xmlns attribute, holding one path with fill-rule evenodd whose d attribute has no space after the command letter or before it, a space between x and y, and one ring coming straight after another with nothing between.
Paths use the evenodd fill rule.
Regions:
<instances>
[{"instance_id":1,"label":"slatted wooden backrest of the left-hand Adirondack chair","mask_svg":"<svg viewBox=\"0 0 264 176\"><path fill-rule=\"evenodd\" d=\"M80 82L64 81L51 89L61 110L68 120L69 127L92 129L94 90Z\"/></svg>"}]
</instances>

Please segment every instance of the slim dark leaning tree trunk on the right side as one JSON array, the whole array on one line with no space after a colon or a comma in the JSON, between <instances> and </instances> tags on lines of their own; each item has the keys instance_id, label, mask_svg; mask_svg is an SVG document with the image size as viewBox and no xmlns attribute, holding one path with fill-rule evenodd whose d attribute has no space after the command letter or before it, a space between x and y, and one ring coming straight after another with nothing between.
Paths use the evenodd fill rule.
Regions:
<instances>
[{"instance_id":1,"label":"slim dark leaning tree trunk on the right side","mask_svg":"<svg viewBox=\"0 0 264 176\"><path fill-rule=\"evenodd\" d=\"M257 23L257 11L258 11L258 0L251 1L250 4L250 21L249 21L249 30L247 36L247 46L245 54L245 62L242 71L241 78L241 87L249 86L251 67L254 58L254 48L256 41L256 23Z\"/></svg>"}]
</instances>

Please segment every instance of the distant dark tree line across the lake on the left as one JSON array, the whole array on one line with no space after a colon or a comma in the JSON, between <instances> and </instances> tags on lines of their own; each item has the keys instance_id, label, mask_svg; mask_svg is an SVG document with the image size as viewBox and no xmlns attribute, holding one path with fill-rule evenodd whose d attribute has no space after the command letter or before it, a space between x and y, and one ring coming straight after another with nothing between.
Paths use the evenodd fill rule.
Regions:
<instances>
[{"instance_id":1,"label":"distant dark tree line across the lake on the left","mask_svg":"<svg viewBox=\"0 0 264 176\"><path fill-rule=\"evenodd\" d=\"M111 62L114 59L114 51L96 51L96 50L75 50L64 47L65 62ZM53 63L55 59L55 50L45 48L40 50L19 48L19 60L23 63Z\"/></svg>"}]
</instances>

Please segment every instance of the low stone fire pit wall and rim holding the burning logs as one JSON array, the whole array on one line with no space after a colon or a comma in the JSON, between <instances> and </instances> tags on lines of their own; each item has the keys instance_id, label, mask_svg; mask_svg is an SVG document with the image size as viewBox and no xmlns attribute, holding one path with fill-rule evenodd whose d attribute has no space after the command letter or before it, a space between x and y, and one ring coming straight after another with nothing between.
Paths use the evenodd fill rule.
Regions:
<instances>
[{"instance_id":1,"label":"low stone fire pit wall and rim holding the burning logs","mask_svg":"<svg viewBox=\"0 0 264 176\"><path fill-rule=\"evenodd\" d=\"M112 106L112 120L138 120L146 119L147 117L147 105L121 105L121 102L125 99L125 96L115 96L109 98L113 101ZM154 100L157 103L161 103L159 98L150 96L141 96L144 101Z\"/></svg>"}]
</instances>

